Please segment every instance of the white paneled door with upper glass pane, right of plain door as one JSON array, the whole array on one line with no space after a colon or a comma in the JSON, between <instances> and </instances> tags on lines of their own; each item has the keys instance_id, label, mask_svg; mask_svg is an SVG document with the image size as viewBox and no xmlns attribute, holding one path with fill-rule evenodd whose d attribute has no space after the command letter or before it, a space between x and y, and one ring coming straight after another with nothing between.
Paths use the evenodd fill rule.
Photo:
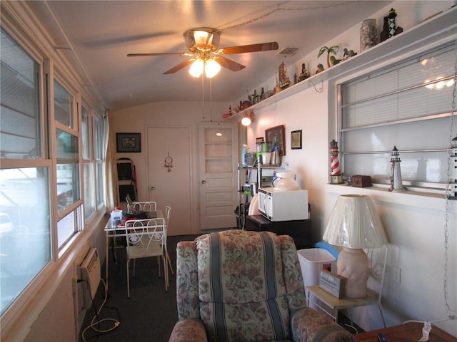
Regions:
<instances>
[{"instance_id":1,"label":"white paneled door with upper glass pane, right of plain door","mask_svg":"<svg viewBox=\"0 0 457 342\"><path fill-rule=\"evenodd\" d=\"M201 123L201 229L236 227L238 204L238 123Z\"/></svg>"}]
</instances>

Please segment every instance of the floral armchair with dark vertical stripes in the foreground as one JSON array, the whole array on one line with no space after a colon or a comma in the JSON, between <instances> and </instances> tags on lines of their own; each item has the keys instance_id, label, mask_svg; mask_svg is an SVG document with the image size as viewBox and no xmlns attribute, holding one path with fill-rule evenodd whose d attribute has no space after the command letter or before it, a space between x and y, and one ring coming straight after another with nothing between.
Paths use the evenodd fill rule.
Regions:
<instances>
[{"instance_id":1,"label":"floral armchair with dark vertical stripes in the foreground","mask_svg":"<svg viewBox=\"0 0 457 342\"><path fill-rule=\"evenodd\" d=\"M354 341L306 307L291 237L228 230L176 250L179 321L170 342Z\"/></svg>"}]
</instances>

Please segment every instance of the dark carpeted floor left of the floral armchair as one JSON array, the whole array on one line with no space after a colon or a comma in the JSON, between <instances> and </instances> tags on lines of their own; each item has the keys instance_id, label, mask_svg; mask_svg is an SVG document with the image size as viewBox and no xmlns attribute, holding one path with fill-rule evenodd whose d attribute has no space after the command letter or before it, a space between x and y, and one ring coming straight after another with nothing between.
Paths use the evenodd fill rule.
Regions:
<instances>
[{"instance_id":1,"label":"dark carpeted floor left of the floral armchair","mask_svg":"<svg viewBox=\"0 0 457 342\"><path fill-rule=\"evenodd\" d=\"M196 235L184 235L168 238L168 249L176 273L176 244L182 240L193 240ZM136 260L135 278L130 278L130 299L127 299L126 279L126 254L124 248L117 248L117 263L114 262L112 249L109 251L109 290L108 299L94 318L95 312L99 310L104 300L103 282L94 298L94 306L86 313L81 328L79 341L101 341L101 342L166 342L169 341L174 324L178 321L176 311L176 277L169 274L169 291L165 292L164 277L159 278L159 270L156 258ZM104 278L105 266L102 269ZM162 267L163 272L163 267ZM94 310L94 307L96 310ZM119 321L119 326L109 333L97 333L86 327L90 326L92 319L99 321L104 318L113 318ZM114 326L114 321L102 321L95 325L99 331L109 330Z\"/></svg>"}]
</instances>

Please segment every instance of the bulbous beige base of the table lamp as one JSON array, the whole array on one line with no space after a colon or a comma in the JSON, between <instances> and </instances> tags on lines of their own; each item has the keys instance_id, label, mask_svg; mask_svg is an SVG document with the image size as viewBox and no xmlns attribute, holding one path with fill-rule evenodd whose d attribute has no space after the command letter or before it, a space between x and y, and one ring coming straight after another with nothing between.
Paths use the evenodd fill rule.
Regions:
<instances>
[{"instance_id":1,"label":"bulbous beige base of the table lamp","mask_svg":"<svg viewBox=\"0 0 457 342\"><path fill-rule=\"evenodd\" d=\"M344 247L336 261L338 275L346 278L344 296L348 298L362 298L366 296L366 282L368 281L368 258L363 249Z\"/></svg>"}]
</instances>

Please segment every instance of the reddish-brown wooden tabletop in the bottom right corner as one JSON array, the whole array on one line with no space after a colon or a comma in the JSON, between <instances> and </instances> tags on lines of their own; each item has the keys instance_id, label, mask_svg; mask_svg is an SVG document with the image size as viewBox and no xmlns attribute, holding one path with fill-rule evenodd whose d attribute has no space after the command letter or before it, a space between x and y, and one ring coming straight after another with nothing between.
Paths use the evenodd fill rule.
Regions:
<instances>
[{"instance_id":1,"label":"reddish-brown wooden tabletop in the bottom right corner","mask_svg":"<svg viewBox=\"0 0 457 342\"><path fill-rule=\"evenodd\" d=\"M387 342L417 342L422 337L423 323L410 322L400 326L391 326L366 333L353 335L358 342L378 342L378 333L382 333ZM456 342L457 338L442 331L436 326L432 326L428 335L428 342Z\"/></svg>"}]
</instances>

